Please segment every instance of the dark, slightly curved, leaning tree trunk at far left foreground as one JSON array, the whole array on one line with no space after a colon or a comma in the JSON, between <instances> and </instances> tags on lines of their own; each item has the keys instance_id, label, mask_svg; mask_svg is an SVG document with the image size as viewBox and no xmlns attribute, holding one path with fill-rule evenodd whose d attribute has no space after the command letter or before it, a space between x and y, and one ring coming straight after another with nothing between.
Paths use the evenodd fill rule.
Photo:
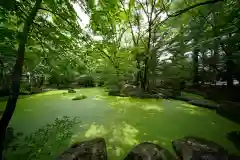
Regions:
<instances>
[{"instance_id":1,"label":"dark, slightly curved, leaning tree trunk at far left foreground","mask_svg":"<svg viewBox=\"0 0 240 160\"><path fill-rule=\"evenodd\" d=\"M30 26L33 23L34 18L37 15L37 11L41 5L41 2L42 0L36 0L36 3L33 9L31 10L26 21L24 22L23 31L20 35L19 46L17 51L17 59L16 59L15 66L13 68L13 73L12 73L11 93L8 98L6 109L0 120L0 159L1 160L3 159L3 149L4 149L3 142L5 139L6 129L9 124L9 121L12 118L13 112L16 107L17 99L18 99L20 80L22 75L22 67L24 62L25 45L27 43L28 32L29 32Z\"/></svg>"}]
</instances>

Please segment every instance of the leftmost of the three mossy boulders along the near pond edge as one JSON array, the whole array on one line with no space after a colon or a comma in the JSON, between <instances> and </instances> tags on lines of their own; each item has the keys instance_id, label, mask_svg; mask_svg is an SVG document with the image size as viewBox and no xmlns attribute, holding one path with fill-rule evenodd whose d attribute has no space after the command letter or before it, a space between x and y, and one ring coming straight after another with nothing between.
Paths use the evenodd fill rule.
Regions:
<instances>
[{"instance_id":1,"label":"leftmost of the three mossy boulders along the near pond edge","mask_svg":"<svg viewBox=\"0 0 240 160\"><path fill-rule=\"evenodd\" d=\"M76 143L64 151L57 160L107 160L106 142L103 138Z\"/></svg>"}]
</instances>

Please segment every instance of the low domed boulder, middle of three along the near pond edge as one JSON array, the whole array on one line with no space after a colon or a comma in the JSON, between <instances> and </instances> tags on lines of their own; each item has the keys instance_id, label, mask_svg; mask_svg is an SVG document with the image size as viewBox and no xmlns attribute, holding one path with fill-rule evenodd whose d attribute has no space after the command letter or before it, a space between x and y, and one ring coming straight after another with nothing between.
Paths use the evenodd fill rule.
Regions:
<instances>
[{"instance_id":1,"label":"low domed boulder, middle of three along the near pond edge","mask_svg":"<svg viewBox=\"0 0 240 160\"><path fill-rule=\"evenodd\" d=\"M134 147L124 160L174 160L171 153L159 145L144 142Z\"/></svg>"}]
</instances>

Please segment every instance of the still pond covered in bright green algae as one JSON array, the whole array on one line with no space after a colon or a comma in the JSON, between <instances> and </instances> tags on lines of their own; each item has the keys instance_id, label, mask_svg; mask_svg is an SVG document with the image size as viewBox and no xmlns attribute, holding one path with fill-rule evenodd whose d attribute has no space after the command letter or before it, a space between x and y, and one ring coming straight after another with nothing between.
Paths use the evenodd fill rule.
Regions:
<instances>
[{"instance_id":1,"label":"still pond covered in bright green algae","mask_svg":"<svg viewBox=\"0 0 240 160\"><path fill-rule=\"evenodd\" d=\"M53 159L70 144L94 137L105 138L108 157L114 160L123 159L134 145L145 141L157 143L173 152L172 140L183 136L212 140L229 152L238 153L227 134L240 130L240 126L217 115L214 110L176 100L112 97L102 88L78 89L77 93L71 94L63 92L66 91L32 95L19 99L17 103L10 126L24 135L30 135L63 116L78 120L72 126L73 132L61 145L56 144L57 134L61 133L51 133L51 141L43 147L46 149L48 145L50 151L46 151L46 156L44 149L36 149L38 159ZM73 101L72 98L79 94L87 98ZM0 102L0 108L5 104Z\"/></svg>"}]
</instances>

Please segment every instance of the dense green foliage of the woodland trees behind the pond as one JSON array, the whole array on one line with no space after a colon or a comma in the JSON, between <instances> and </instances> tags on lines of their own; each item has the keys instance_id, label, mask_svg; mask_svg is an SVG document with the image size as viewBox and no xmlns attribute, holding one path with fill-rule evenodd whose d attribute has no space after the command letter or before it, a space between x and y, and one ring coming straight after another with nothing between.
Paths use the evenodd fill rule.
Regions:
<instances>
[{"instance_id":1,"label":"dense green foliage of the woodland trees behind the pond","mask_svg":"<svg viewBox=\"0 0 240 160\"><path fill-rule=\"evenodd\" d=\"M232 86L240 77L239 2L206 2L46 0L28 35L22 86L132 83L152 90L219 80ZM2 90L33 2L12 3L1 7ZM85 28L76 6L90 18Z\"/></svg>"}]
</instances>

